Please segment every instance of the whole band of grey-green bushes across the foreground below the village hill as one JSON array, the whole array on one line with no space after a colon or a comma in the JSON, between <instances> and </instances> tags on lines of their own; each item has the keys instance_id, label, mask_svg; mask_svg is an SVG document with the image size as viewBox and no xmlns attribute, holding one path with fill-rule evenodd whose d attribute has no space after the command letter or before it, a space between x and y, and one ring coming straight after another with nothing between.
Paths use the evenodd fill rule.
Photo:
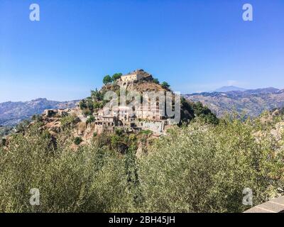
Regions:
<instances>
[{"instance_id":1,"label":"whole band of grey-green bushes across the foreground below the village hill","mask_svg":"<svg viewBox=\"0 0 284 227\"><path fill-rule=\"evenodd\" d=\"M264 114L214 125L197 117L154 140L139 158L147 131L94 135L75 151L80 139L68 128L54 146L35 124L0 145L0 212L244 211L245 187L254 205L283 192L284 140L271 133L281 121ZM118 152L123 145L126 152ZM39 206L29 204L32 188L40 190Z\"/></svg>"}]
</instances>

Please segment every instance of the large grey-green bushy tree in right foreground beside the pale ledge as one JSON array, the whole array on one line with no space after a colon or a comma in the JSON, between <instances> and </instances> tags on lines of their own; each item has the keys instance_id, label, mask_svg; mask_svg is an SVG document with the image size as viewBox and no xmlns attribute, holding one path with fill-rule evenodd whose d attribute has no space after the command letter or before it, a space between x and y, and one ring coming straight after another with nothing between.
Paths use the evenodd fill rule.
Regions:
<instances>
[{"instance_id":1,"label":"large grey-green bushy tree in right foreground beside the pale ledge","mask_svg":"<svg viewBox=\"0 0 284 227\"><path fill-rule=\"evenodd\" d=\"M270 137L256 140L251 122L224 120L176 128L140 160L146 199L141 211L241 212L245 187L253 203L283 188L283 148ZM275 148L280 150L275 150Z\"/></svg>"}]
</instances>

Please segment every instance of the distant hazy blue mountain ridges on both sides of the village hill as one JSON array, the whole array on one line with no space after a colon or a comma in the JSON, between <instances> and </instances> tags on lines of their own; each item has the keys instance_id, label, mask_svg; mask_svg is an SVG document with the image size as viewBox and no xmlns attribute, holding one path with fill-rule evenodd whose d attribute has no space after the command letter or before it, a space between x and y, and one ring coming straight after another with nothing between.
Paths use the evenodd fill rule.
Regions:
<instances>
[{"instance_id":1,"label":"distant hazy blue mountain ridges on both sides of the village hill","mask_svg":"<svg viewBox=\"0 0 284 227\"><path fill-rule=\"evenodd\" d=\"M237 87L225 87L236 89ZM240 88L239 88L240 89ZM265 110L284 106L284 89L268 87L264 89L244 89L244 91L202 92L184 94L190 101L200 101L214 111L217 116L237 111L247 116L258 116ZM31 118L34 114L42 114L45 109L74 108L80 100L50 101L34 99L31 101L7 101L0 103L0 126L15 126L17 123Z\"/></svg>"}]
</instances>

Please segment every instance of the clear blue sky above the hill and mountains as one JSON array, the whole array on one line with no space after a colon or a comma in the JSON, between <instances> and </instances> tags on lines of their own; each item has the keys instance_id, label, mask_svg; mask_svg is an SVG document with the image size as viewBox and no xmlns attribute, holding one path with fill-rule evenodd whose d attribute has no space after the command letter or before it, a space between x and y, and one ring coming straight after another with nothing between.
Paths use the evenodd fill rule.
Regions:
<instances>
[{"instance_id":1,"label":"clear blue sky above the hill and mountains","mask_svg":"<svg viewBox=\"0 0 284 227\"><path fill-rule=\"evenodd\" d=\"M82 99L137 68L182 93L282 89L284 1L0 0L0 102Z\"/></svg>"}]
</instances>

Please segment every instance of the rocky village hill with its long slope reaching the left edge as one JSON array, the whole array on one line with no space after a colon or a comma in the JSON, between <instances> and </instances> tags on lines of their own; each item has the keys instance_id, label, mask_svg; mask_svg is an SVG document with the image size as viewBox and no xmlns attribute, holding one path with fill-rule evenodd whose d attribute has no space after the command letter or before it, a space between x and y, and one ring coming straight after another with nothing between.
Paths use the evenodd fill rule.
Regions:
<instances>
[{"instance_id":1,"label":"rocky village hill with its long slope reaching the left edge","mask_svg":"<svg viewBox=\"0 0 284 227\"><path fill-rule=\"evenodd\" d=\"M159 82L144 70L107 75L103 83L101 89L92 90L72 107L45 109L31 121L19 123L4 135L0 146L8 148L13 135L36 132L54 150L58 143L69 141L67 146L72 150L97 144L141 157L157 138L170 135L175 127L195 120L219 122L206 106L175 94L167 82Z\"/></svg>"}]
</instances>

